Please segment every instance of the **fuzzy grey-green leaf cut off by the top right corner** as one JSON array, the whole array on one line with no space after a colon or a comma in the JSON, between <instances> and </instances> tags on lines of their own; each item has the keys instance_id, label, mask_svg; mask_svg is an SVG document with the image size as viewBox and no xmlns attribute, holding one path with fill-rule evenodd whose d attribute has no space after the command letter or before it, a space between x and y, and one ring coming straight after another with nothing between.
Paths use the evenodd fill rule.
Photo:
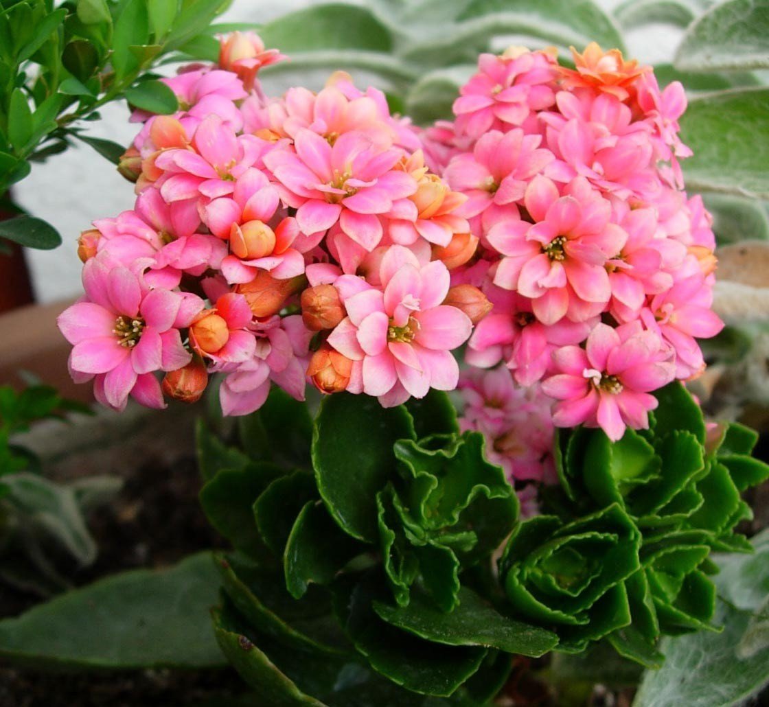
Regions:
<instances>
[{"instance_id":1,"label":"fuzzy grey-green leaf cut off by the top right corner","mask_svg":"<svg viewBox=\"0 0 769 707\"><path fill-rule=\"evenodd\" d=\"M722 2L687 30L675 64L689 71L769 68L767 35L767 0Z\"/></svg>"}]
</instances>

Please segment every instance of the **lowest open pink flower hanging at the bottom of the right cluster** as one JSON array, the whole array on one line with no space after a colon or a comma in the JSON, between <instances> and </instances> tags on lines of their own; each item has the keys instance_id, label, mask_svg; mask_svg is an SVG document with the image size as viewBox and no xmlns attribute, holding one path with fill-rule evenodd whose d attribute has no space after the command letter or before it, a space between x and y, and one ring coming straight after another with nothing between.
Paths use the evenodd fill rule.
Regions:
<instances>
[{"instance_id":1,"label":"lowest open pink flower hanging at the bottom of the right cluster","mask_svg":"<svg viewBox=\"0 0 769 707\"><path fill-rule=\"evenodd\" d=\"M671 350L653 331L634 322L612 329L598 324L584 349L567 346L554 353L559 373L544 380L542 390L556 398L557 427L601 427L617 441L626 427L648 427L648 411L657 407L650 395L675 377Z\"/></svg>"}]
</instances>

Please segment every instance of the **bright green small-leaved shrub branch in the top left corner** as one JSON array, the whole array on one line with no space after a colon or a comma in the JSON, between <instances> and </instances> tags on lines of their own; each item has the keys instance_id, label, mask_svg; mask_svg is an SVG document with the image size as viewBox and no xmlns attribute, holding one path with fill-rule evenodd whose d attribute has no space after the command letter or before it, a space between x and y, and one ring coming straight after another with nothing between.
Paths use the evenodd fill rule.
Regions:
<instances>
[{"instance_id":1,"label":"bright green small-leaved shrub branch in the top left corner","mask_svg":"<svg viewBox=\"0 0 769 707\"><path fill-rule=\"evenodd\" d=\"M83 132L98 108L125 98L135 108L173 113L178 101L153 68L173 55L194 58L195 38L228 0L2 0L0 2L0 194L32 163L73 139L118 163L123 148ZM193 42L193 44L190 44ZM61 236L41 219L0 221L0 237L53 248ZM2 247L2 241L0 241Z\"/></svg>"}]
</instances>

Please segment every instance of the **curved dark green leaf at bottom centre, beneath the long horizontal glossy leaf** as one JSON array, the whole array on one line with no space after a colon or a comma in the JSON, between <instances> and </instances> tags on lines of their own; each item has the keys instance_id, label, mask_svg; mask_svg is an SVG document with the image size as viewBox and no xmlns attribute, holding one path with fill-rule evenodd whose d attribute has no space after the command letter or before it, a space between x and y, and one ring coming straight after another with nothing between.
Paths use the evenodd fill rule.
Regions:
<instances>
[{"instance_id":1,"label":"curved dark green leaf at bottom centre, beneath the long horizontal glossy leaf","mask_svg":"<svg viewBox=\"0 0 769 707\"><path fill-rule=\"evenodd\" d=\"M340 602L345 628L371 667L397 685L423 695L452 695L481 666L486 650L441 646L383 622L372 609L386 600L378 574L366 577Z\"/></svg>"}]
</instances>

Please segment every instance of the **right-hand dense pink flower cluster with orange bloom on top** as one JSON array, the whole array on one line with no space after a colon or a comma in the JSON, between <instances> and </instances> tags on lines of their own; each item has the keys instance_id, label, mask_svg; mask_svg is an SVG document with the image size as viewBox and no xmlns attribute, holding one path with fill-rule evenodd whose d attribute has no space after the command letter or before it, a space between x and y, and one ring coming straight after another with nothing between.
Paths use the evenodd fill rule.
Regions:
<instances>
[{"instance_id":1,"label":"right-hand dense pink flower cluster with orange bloom on top","mask_svg":"<svg viewBox=\"0 0 769 707\"><path fill-rule=\"evenodd\" d=\"M654 390L704 369L697 338L723 326L715 241L683 190L681 84L661 91L617 50L572 51L574 69L550 51L482 55L454 121L421 137L431 168L468 197L457 213L480 243L452 284L494 305L465 360L541 382L556 426L618 440L647 427Z\"/></svg>"}]
</instances>

